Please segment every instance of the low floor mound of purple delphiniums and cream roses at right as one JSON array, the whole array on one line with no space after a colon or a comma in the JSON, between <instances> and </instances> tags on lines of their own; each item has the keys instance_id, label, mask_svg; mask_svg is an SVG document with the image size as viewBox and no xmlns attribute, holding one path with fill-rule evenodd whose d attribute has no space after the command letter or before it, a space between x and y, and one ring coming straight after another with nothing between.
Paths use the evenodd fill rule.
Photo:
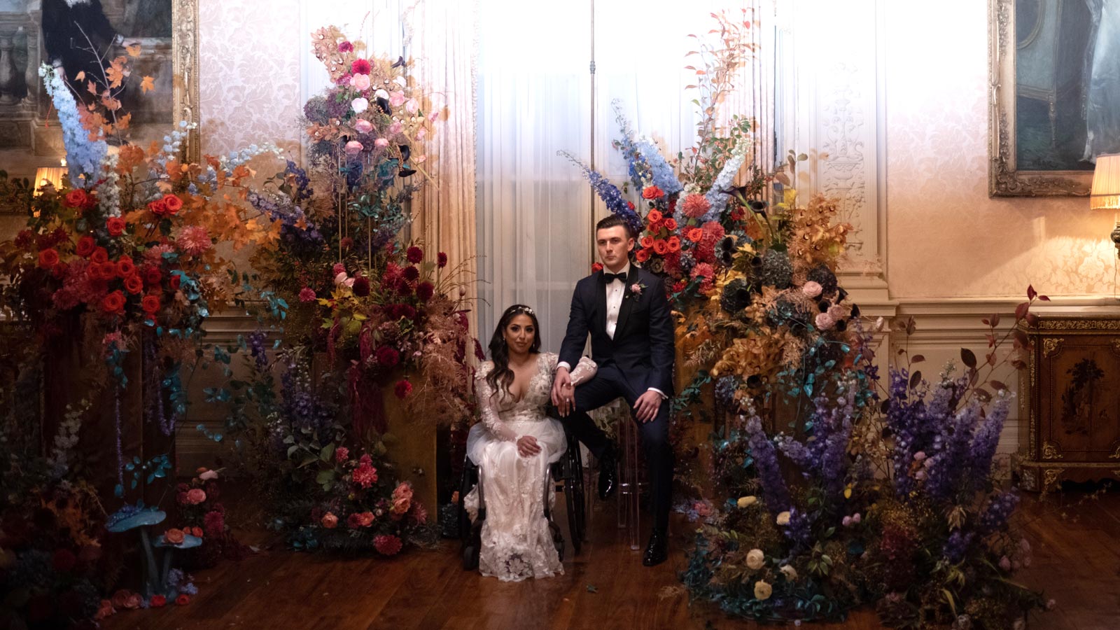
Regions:
<instances>
[{"instance_id":1,"label":"low floor mound of purple delphiniums and cream roses at right","mask_svg":"<svg viewBox=\"0 0 1120 630\"><path fill-rule=\"evenodd\" d=\"M1014 331L1036 297L1028 289L1002 339L987 321L986 360L962 349L959 377L950 365L931 383L914 356L880 397L862 365L819 391L788 434L767 434L748 400L716 444L731 498L707 510L691 592L759 620L839 619L872 602L897 628L1011 628L1052 606L1012 581L1030 545L1010 520L1017 493L993 470L1010 397L990 374L1019 361L1027 340Z\"/></svg>"}]
</instances>

